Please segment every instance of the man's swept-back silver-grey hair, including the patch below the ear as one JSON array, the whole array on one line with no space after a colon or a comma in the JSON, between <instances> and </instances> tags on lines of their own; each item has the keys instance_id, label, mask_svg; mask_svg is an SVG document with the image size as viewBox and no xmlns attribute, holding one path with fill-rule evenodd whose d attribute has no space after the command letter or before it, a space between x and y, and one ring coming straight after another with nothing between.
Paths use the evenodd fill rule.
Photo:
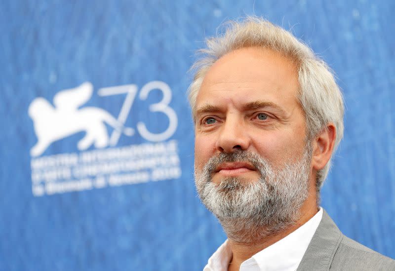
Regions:
<instances>
[{"instance_id":1,"label":"man's swept-back silver-grey hair, including the patch below the ear","mask_svg":"<svg viewBox=\"0 0 395 271\"><path fill-rule=\"evenodd\" d=\"M312 49L296 39L290 32L259 17L247 17L241 22L231 21L225 32L206 40L207 48L200 49L202 58L192 66L196 71L189 87L189 102L195 111L197 93L205 74L219 58L239 48L264 47L281 53L290 59L298 69L298 100L305 113L307 136L306 142L312 140L329 123L336 127L334 150L343 137L343 97L339 86L328 65L319 59ZM330 162L317 172L317 193L328 174Z\"/></svg>"}]
</instances>

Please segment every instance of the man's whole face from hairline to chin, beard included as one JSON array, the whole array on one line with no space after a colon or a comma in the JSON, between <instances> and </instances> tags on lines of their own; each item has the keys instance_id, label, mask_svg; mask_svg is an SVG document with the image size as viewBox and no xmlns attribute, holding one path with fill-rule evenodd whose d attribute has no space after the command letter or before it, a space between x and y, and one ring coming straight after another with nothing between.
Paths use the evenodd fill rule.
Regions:
<instances>
[{"instance_id":1,"label":"man's whole face from hairline to chin, beard included","mask_svg":"<svg viewBox=\"0 0 395 271\"><path fill-rule=\"evenodd\" d=\"M238 49L211 67L197 95L197 192L234 240L285 229L308 197L312 151L296 75L270 50Z\"/></svg>"}]
</instances>

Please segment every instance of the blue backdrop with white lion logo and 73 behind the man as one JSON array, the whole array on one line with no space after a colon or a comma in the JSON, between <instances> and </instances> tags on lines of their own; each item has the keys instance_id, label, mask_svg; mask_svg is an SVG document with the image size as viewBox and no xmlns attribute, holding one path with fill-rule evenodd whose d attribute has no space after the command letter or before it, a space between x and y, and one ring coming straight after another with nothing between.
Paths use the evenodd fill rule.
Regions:
<instances>
[{"instance_id":1,"label":"blue backdrop with white lion logo and 73 behind the man","mask_svg":"<svg viewBox=\"0 0 395 271\"><path fill-rule=\"evenodd\" d=\"M346 235L395 257L394 1L0 7L0 270L204 267L226 236L193 184L187 71L218 25L252 14L335 71L345 136L322 206Z\"/></svg>"}]
</instances>

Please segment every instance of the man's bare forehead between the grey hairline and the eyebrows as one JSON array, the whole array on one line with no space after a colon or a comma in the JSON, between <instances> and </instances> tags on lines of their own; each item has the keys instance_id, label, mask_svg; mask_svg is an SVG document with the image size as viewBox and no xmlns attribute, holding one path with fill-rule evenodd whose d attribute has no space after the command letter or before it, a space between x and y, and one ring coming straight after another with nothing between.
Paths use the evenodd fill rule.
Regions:
<instances>
[{"instance_id":1,"label":"man's bare forehead between the grey hairline and the eyebrows","mask_svg":"<svg viewBox=\"0 0 395 271\"><path fill-rule=\"evenodd\" d=\"M207 104L246 104L256 100L282 107L298 105L298 75L288 58L270 49L234 50L207 71L197 94L195 110Z\"/></svg>"}]
</instances>

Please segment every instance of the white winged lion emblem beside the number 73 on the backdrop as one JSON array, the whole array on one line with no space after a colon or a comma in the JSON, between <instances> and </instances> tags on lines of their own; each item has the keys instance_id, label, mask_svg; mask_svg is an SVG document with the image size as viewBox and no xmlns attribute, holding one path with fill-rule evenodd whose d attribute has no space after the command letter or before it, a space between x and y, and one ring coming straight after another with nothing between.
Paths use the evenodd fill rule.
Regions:
<instances>
[{"instance_id":1,"label":"white winged lion emblem beside the number 73 on the backdrop","mask_svg":"<svg viewBox=\"0 0 395 271\"><path fill-rule=\"evenodd\" d=\"M109 145L109 136L105 123L127 136L132 136L134 130L123 127L107 111L97 107L85 107L93 93L90 82L84 82L76 88L58 92L53 98L53 107L44 98L36 98L29 106L29 116L34 123L38 138L37 144L30 150L32 156L41 155L53 142L85 131L85 136L78 142L80 151L88 149L92 144L96 148Z\"/></svg>"}]
</instances>

